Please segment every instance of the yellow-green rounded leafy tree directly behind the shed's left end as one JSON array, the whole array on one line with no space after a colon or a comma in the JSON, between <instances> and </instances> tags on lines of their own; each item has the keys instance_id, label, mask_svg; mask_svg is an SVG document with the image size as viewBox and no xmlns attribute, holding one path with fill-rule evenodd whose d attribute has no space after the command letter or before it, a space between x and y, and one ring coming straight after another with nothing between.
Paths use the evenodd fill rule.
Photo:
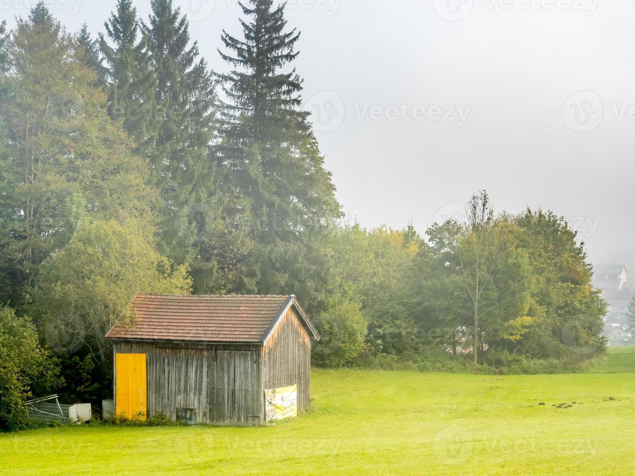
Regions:
<instances>
[{"instance_id":1,"label":"yellow-green rounded leafy tree directly behind the shed's left end","mask_svg":"<svg viewBox=\"0 0 635 476\"><path fill-rule=\"evenodd\" d=\"M138 293L187 294L191 282L184 266L159 255L144 224L84 220L69 244L44 269L34 310L50 342L86 346L102 365L110 362L105 334L121 319Z\"/></svg>"}]
</instances>

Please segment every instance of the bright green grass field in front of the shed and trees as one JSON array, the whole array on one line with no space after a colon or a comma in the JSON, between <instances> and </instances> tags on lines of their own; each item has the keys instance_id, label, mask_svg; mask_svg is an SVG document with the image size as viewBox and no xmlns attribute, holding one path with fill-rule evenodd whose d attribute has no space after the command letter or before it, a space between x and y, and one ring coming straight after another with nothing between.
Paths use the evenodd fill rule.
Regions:
<instances>
[{"instance_id":1,"label":"bright green grass field in front of the shed and trees","mask_svg":"<svg viewBox=\"0 0 635 476\"><path fill-rule=\"evenodd\" d=\"M585 374L319 370L296 420L0 435L0 473L633 474L634 371L635 348Z\"/></svg>"}]
</instances>

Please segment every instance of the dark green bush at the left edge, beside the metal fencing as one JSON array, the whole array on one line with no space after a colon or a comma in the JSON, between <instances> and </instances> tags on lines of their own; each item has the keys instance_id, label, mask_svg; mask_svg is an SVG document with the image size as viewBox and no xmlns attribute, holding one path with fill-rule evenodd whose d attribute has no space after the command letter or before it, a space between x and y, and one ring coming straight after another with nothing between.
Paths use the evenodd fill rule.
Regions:
<instances>
[{"instance_id":1,"label":"dark green bush at the left edge, beside the metal fencing","mask_svg":"<svg viewBox=\"0 0 635 476\"><path fill-rule=\"evenodd\" d=\"M40 347L30 319L0 307L0 430L26 428L29 415L25 400L48 391L57 383L57 375L57 367Z\"/></svg>"}]
</instances>

